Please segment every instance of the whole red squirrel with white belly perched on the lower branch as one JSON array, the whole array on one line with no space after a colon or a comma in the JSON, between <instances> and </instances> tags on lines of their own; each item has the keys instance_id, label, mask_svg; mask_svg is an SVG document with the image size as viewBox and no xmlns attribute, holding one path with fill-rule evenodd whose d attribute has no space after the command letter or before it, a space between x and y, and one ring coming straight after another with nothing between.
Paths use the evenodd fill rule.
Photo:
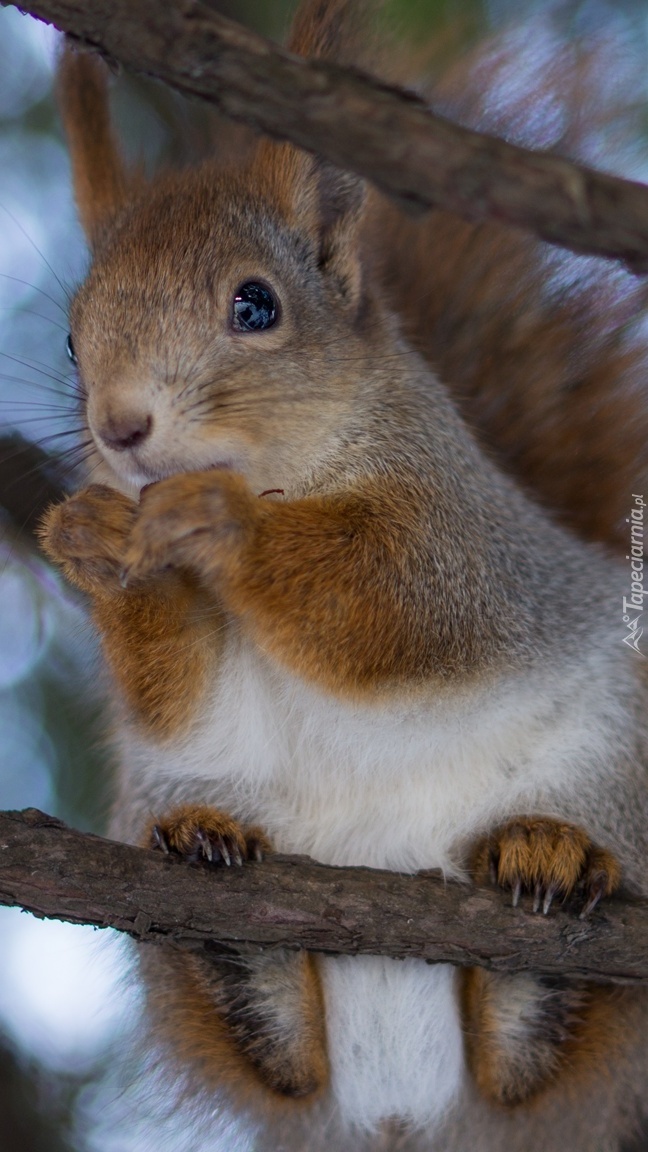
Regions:
<instances>
[{"instance_id":1,"label":"whole red squirrel with white belly perched on the lower branch","mask_svg":"<svg viewBox=\"0 0 648 1152\"><path fill-rule=\"evenodd\" d=\"M370 67L361 29L303 0L288 47ZM615 555L646 416L630 396L615 432L609 410L630 354L588 355L585 311L540 305L521 234L401 217L266 138L146 181L103 62L66 48L59 83L95 448L42 540L114 684L112 833L205 866L442 869L545 914L646 895L648 673ZM175 1074L259 1149L612 1152L643 1119L643 990L142 952Z\"/></svg>"}]
</instances>

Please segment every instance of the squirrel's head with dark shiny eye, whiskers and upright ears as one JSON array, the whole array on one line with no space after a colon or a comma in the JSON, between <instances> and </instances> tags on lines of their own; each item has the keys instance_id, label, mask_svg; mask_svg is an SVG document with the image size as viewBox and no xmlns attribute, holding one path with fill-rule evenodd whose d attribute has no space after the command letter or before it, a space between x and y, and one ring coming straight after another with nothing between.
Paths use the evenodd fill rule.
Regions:
<instances>
[{"instance_id":1,"label":"squirrel's head with dark shiny eye, whiskers and upright ears","mask_svg":"<svg viewBox=\"0 0 648 1152\"><path fill-rule=\"evenodd\" d=\"M92 253L69 350L93 477L133 491L227 467L259 490L299 486L386 339L363 278L362 182L261 141L236 168L148 183L114 141L103 63L66 51L60 96Z\"/></svg>"}]
</instances>

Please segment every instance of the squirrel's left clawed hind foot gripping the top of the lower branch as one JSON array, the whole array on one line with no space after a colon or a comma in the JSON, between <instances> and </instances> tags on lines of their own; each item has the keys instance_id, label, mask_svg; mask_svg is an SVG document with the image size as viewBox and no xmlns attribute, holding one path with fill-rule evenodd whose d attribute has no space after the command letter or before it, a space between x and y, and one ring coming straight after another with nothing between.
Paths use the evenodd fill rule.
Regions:
<instances>
[{"instance_id":1,"label":"squirrel's left clawed hind foot gripping the top of the lower branch","mask_svg":"<svg viewBox=\"0 0 648 1152\"><path fill-rule=\"evenodd\" d=\"M188 861L242 864L263 859L271 844L261 828L246 828L209 804L183 804L153 824L149 844Z\"/></svg>"}]
</instances>

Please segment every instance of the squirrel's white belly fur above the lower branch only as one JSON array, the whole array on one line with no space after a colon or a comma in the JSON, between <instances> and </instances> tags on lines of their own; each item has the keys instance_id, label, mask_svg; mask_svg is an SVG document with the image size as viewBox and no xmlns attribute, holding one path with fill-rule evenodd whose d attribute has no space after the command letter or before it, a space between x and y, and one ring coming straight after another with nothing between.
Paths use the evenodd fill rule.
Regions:
<instances>
[{"instance_id":1,"label":"squirrel's white belly fur above the lower branch only","mask_svg":"<svg viewBox=\"0 0 648 1152\"><path fill-rule=\"evenodd\" d=\"M536 684L354 705L239 643L183 742L129 740L125 759L150 796L216 804L261 824L280 851L455 872L458 847L560 783L566 733L573 750L573 717Z\"/></svg>"}]
</instances>

